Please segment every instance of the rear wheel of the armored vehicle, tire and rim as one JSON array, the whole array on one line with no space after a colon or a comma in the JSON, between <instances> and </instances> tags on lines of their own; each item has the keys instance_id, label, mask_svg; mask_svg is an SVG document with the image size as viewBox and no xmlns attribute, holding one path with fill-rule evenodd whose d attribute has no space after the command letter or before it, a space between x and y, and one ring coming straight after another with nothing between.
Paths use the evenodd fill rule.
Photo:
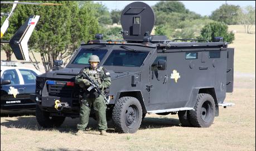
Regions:
<instances>
[{"instance_id":1,"label":"rear wheel of the armored vehicle, tire and rim","mask_svg":"<svg viewBox=\"0 0 256 151\"><path fill-rule=\"evenodd\" d=\"M189 114L194 127L210 127L215 117L214 98L206 93L197 94L195 107Z\"/></svg>"}]
</instances>

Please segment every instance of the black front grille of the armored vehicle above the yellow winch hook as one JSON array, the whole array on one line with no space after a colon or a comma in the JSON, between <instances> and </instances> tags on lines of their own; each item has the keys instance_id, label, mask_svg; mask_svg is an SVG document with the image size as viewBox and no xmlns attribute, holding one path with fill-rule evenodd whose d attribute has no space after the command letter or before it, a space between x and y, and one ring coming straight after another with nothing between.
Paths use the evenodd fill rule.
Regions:
<instances>
[{"instance_id":1,"label":"black front grille of the armored vehicle above the yellow winch hook","mask_svg":"<svg viewBox=\"0 0 256 151\"><path fill-rule=\"evenodd\" d=\"M49 95L56 97L71 98L74 92L74 87L66 85L50 85L48 87Z\"/></svg>"}]
</instances>

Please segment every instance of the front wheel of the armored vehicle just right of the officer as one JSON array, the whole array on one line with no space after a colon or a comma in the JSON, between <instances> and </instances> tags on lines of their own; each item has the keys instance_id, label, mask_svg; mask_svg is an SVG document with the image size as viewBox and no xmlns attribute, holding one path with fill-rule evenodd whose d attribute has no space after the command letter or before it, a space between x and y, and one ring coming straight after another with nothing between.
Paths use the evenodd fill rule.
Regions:
<instances>
[{"instance_id":1,"label":"front wheel of the armored vehicle just right of the officer","mask_svg":"<svg viewBox=\"0 0 256 151\"><path fill-rule=\"evenodd\" d=\"M112 114L116 129L121 133L135 133L142 121L142 108L134 97L122 97L115 104Z\"/></svg>"}]
</instances>

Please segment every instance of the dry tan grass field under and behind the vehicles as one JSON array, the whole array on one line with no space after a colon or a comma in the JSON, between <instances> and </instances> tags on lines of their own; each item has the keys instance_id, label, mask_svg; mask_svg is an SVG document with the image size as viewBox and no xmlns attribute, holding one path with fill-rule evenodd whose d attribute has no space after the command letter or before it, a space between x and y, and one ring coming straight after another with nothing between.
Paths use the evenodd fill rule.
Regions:
<instances>
[{"instance_id":1,"label":"dry tan grass field under and behind the vehicles","mask_svg":"<svg viewBox=\"0 0 256 151\"><path fill-rule=\"evenodd\" d=\"M220 108L210 128L181 127L177 115L147 114L135 134L116 133L109 121L109 135L103 137L90 119L91 130L78 137L79 119L67 118L60 128L44 129L33 112L1 113L1 150L255 150L255 34L230 27L234 29L236 40L229 45L235 48L234 92L225 101L235 105Z\"/></svg>"}]
</instances>

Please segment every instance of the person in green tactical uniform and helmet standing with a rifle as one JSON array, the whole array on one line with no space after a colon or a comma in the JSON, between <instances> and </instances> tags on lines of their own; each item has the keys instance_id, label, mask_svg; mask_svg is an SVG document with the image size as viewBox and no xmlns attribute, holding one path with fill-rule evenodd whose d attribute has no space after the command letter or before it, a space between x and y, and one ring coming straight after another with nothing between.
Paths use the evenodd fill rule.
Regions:
<instances>
[{"instance_id":1,"label":"person in green tactical uniform and helmet standing with a rifle","mask_svg":"<svg viewBox=\"0 0 256 151\"><path fill-rule=\"evenodd\" d=\"M75 77L75 83L79 84L79 86L84 89L83 99L81 100L80 105L80 122L78 124L77 135L84 133L89 122L90 107L92 105L96 112L100 135L107 135L107 105L105 103L104 96L96 92L95 89L91 89L89 91L88 88L91 85L89 80L84 79L83 76L81 76L81 73L87 73L90 79L94 80L95 83L98 83L100 89L104 92L104 90L110 86L111 80L109 72L103 67L98 67L99 62L100 60L98 56L90 56L90 67L81 69L79 74Z\"/></svg>"}]
</instances>

